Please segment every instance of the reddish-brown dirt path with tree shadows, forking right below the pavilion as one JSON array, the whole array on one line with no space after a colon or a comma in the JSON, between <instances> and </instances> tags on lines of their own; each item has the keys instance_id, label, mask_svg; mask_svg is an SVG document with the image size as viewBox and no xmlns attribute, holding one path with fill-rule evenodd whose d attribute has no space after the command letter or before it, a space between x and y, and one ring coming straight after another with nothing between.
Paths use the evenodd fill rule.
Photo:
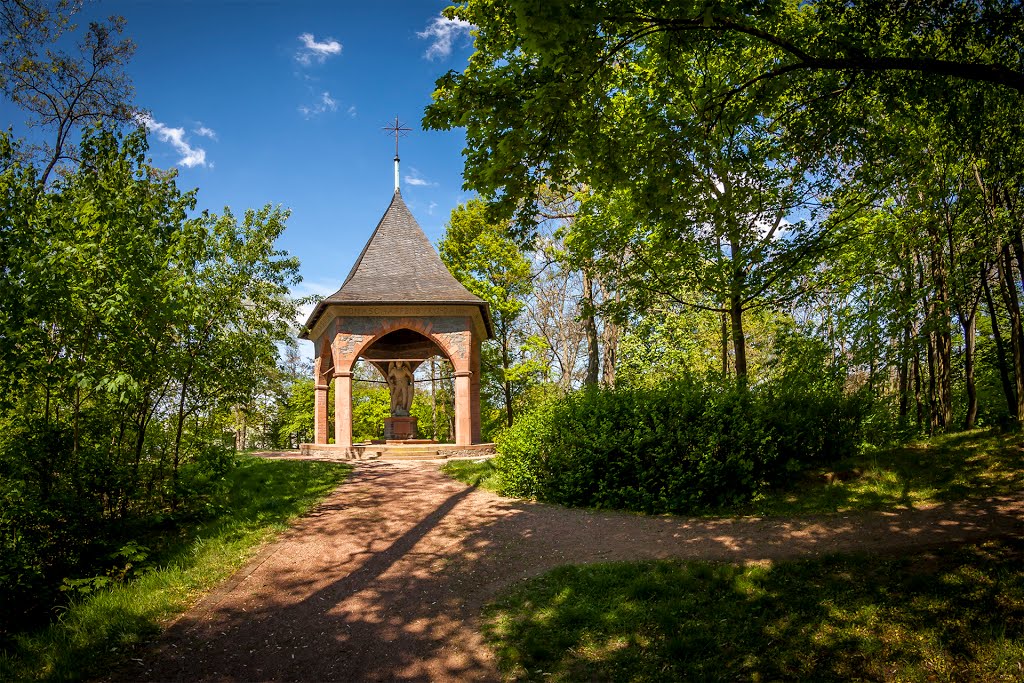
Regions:
<instances>
[{"instance_id":1,"label":"reddish-brown dirt path with tree shadows, forking right below the pavilion","mask_svg":"<svg viewBox=\"0 0 1024 683\"><path fill-rule=\"evenodd\" d=\"M695 520L510 501L431 463L349 480L175 623L118 680L493 680L496 591L568 562L770 560L1024 532L1024 496L798 520Z\"/></svg>"}]
</instances>

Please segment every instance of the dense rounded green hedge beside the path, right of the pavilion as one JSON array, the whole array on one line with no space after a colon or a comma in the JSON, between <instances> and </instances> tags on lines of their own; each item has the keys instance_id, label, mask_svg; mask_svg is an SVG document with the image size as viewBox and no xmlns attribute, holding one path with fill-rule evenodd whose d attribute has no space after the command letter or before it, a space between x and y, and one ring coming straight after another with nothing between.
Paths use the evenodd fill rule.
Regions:
<instances>
[{"instance_id":1,"label":"dense rounded green hedge beside the path, right of the pavilion","mask_svg":"<svg viewBox=\"0 0 1024 683\"><path fill-rule=\"evenodd\" d=\"M520 418L499 437L494 462L508 496L689 513L743 503L853 455L860 404L838 382L792 378L748 389L694 378L591 388Z\"/></svg>"}]
</instances>

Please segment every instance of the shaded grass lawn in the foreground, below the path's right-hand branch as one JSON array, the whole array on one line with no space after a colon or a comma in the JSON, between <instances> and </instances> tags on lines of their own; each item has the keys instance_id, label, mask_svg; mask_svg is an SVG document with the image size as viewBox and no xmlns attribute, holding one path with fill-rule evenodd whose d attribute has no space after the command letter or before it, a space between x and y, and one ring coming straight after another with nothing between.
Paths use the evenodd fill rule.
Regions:
<instances>
[{"instance_id":1,"label":"shaded grass lawn in the foreground, below the path's right-hand branch","mask_svg":"<svg viewBox=\"0 0 1024 683\"><path fill-rule=\"evenodd\" d=\"M507 678L1019 681L1024 541L902 558L560 567L484 610Z\"/></svg>"}]
</instances>

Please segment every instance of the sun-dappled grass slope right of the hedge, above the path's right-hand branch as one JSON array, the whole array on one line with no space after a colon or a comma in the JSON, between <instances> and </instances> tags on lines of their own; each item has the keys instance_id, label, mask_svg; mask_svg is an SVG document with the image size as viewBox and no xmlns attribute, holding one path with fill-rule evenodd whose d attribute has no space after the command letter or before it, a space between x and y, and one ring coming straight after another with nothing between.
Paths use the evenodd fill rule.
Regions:
<instances>
[{"instance_id":1,"label":"sun-dappled grass slope right of the hedge, above the path's right-hand branch","mask_svg":"<svg viewBox=\"0 0 1024 683\"><path fill-rule=\"evenodd\" d=\"M1021 435L978 429L865 454L808 472L785 490L770 492L738 510L716 513L791 516L885 510L1022 489Z\"/></svg>"}]
</instances>

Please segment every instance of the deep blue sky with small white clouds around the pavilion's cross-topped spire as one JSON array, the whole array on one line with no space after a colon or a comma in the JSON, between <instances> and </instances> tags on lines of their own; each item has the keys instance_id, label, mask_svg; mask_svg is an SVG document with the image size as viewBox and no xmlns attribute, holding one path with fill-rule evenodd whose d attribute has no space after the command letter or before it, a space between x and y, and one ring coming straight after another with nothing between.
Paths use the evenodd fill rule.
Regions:
<instances>
[{"instance_id":1,"label":"deep blue sky with small white clouds around the pavilion's cross-topped spire","mask_svg":"<svg viewBox=\"0 0 1024 683\"><path fill-rule=\"evenodd\" d=\"M176 167L199 209L291 210L280 246L302 262L297 294L330 294L387 208L397 116L402 196L435 244L462 190L462 131L426 132L435 79L461 71L467 27L451 2L109 0L76 19L120 14L137 43L129 73L153 119L151 156ZM26 132L4 104L5 122Z\"/></svg>"}]
</instances>

